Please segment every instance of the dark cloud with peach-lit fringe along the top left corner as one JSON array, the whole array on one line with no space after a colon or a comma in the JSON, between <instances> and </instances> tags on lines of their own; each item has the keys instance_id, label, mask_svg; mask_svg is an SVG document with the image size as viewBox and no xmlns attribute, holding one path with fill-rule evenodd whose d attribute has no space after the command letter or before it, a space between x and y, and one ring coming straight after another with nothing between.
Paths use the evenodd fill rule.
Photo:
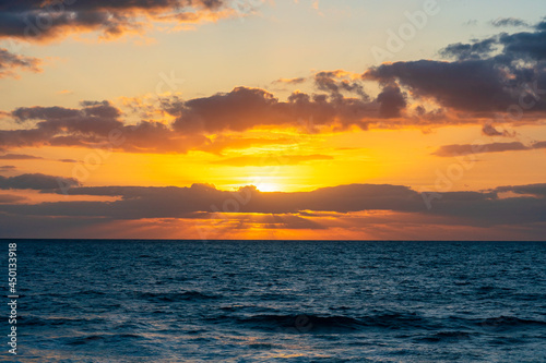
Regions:
<instances>
[{"instance_id":1,"label":"dark cloud with peach-lit fringe along the top left corner","mask_svg":"<svg viewBox=\"0 0 546 363\"><path fill-rule=\"evenodd\" d=\"M38 1L9 0L1 5L0 37L49 40L82 32L104 38L142 33L154 22L180 25L244 15L228 0ZM252 11L252 9L249 9Z\"/></svg>"}]
</instances>

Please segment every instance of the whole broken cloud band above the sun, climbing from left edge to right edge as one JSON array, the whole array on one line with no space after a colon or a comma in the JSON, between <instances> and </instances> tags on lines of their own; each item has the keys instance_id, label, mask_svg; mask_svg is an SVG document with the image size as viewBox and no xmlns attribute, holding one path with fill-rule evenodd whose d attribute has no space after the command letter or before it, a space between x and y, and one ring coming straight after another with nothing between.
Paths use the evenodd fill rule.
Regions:
<instances>
[{"instance_id":1,"label":"whole broken cloud band above the sun, climbing from left edge to right edge","mask_svg":"<svg viewBox=\"0 0 546 363\"><path fill-rule=\"evenodd\" d=\"M223 4L202 5L216 9ZM123 5L129 7L122 2L119 9ZM0 149L106 145L129 153L219 154L229 145L215 141L217 135L256 128L296 128L319 133L352 128L429 130L448 124L484 124L485 118L496 118L496 123L538 122L546 116L545 36L546 22L535 25L532 32L450 45L443 55L455 58L452 61L384 63L363 74L320 71L312 77L318 93L295 90L286 100L265 89L245 86L186 100L166 97L153 110L164 118L163 122L145 119L129 125L123 112L106 100L84 101L81 108L17 108L11 117L27 125L0 130ZM378 83L377 97L365 92L366 82ZM423 105L428 104L432 105L427 110ZM517 111L521 116L513 117ZM174 121L167 124L165 120ZM111 133L118 135L118 142L111 142ZM500 136L490 124L484 126L483 133Z\"/></svg>"}]
</instances>

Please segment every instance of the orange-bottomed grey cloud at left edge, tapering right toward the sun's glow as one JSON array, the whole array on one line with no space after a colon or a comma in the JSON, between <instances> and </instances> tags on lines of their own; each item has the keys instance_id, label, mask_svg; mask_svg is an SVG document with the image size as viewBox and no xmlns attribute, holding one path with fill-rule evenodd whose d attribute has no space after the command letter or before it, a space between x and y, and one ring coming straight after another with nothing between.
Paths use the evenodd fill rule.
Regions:
<instances>
[{"instance_id":1,"label":"orange-bottomed grey cloud at left edge, tapering right toward the sun's glow","mask_svg":"<svg viewBox=\"0 0 546 363\"><path fill-rule=\"evenodd\" d=\"M82 106L81 109L31 107L14 110L12 117L16 121L36 124L32 129L0 130L0 149L51 145L106 152L187 153L210 143L204 136L174 132L161 122L127 125L121 119L122 112L108 101L85 101Z\"/></svg>"}]
</instances>

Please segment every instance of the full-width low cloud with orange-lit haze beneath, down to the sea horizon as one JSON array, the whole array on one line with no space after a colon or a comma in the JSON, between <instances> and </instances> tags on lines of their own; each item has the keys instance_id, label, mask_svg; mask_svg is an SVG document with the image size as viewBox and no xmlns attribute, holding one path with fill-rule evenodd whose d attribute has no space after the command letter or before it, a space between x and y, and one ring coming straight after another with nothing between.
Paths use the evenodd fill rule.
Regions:
<instances>
[{"instance_id":1,"label":"full-width low cloud with orange-lit haze beneath, down to the sea horizon","mask_svg":"<svg viewBox=\"0 0 546 363\"><path fill-rule=\"evenodd\" d=\"M134 238L142 237L141 233L145 233L142 227L149 226L152 234L145 235L158 238L166 237L162 234L165 232L163 227L173 226L175 232L167 237L183 233L187 238L225 238L240 231L242 234L237 234L238 238L249 238L248 233L259 230L286 233L282 231L289 229L318 230L321 232L317 238L332 239L341 235L400 239L401 235L410 238L403 231L412 230L412 239L417 240L463 235L473 240L543 240L545 185L509 185L442 194L417 193L407 186L390 184L339 185L296 193L263 193L254 186L228 192L207 184L191 187L76 186L69 189L69 195L116 198L38 204L7 201L0 205L0 233L2 237L35 238L32 231L44 226L40 233L47 231L49 237L78 238L82 228L88 227L91 234L86 235L97 235L95 232L102 230L109 238ZM45 192L61 194L58 190ZM507 197L507 193L512 194ZM427 194L435 194L431 208L425 204ZM278 237L287 235L276 234Z\"/></svg>"}]
</instances>

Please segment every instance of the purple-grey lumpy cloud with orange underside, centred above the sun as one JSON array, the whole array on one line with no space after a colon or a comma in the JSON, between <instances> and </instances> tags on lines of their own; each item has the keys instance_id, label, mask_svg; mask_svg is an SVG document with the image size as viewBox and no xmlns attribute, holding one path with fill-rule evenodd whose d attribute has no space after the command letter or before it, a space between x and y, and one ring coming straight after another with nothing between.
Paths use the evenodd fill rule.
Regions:
<instances>
[{"instance_id":1,"label":"purple-grey lumpy cloud with orange underside, centred above the sun","mask_svg":"<svg viewBox=\"0 0 546 363\"><path fill-rule=\"evenodd\" d=\"M380 117L377 102L361 98L296 92L287 101L280 101L266 90L247 87L171 104L166 110L177 117L175 130L205 134L245 131L256 125L300 128L306 120L317 126L367 129L370 119Z\"/></svg>"}]
</instances>

